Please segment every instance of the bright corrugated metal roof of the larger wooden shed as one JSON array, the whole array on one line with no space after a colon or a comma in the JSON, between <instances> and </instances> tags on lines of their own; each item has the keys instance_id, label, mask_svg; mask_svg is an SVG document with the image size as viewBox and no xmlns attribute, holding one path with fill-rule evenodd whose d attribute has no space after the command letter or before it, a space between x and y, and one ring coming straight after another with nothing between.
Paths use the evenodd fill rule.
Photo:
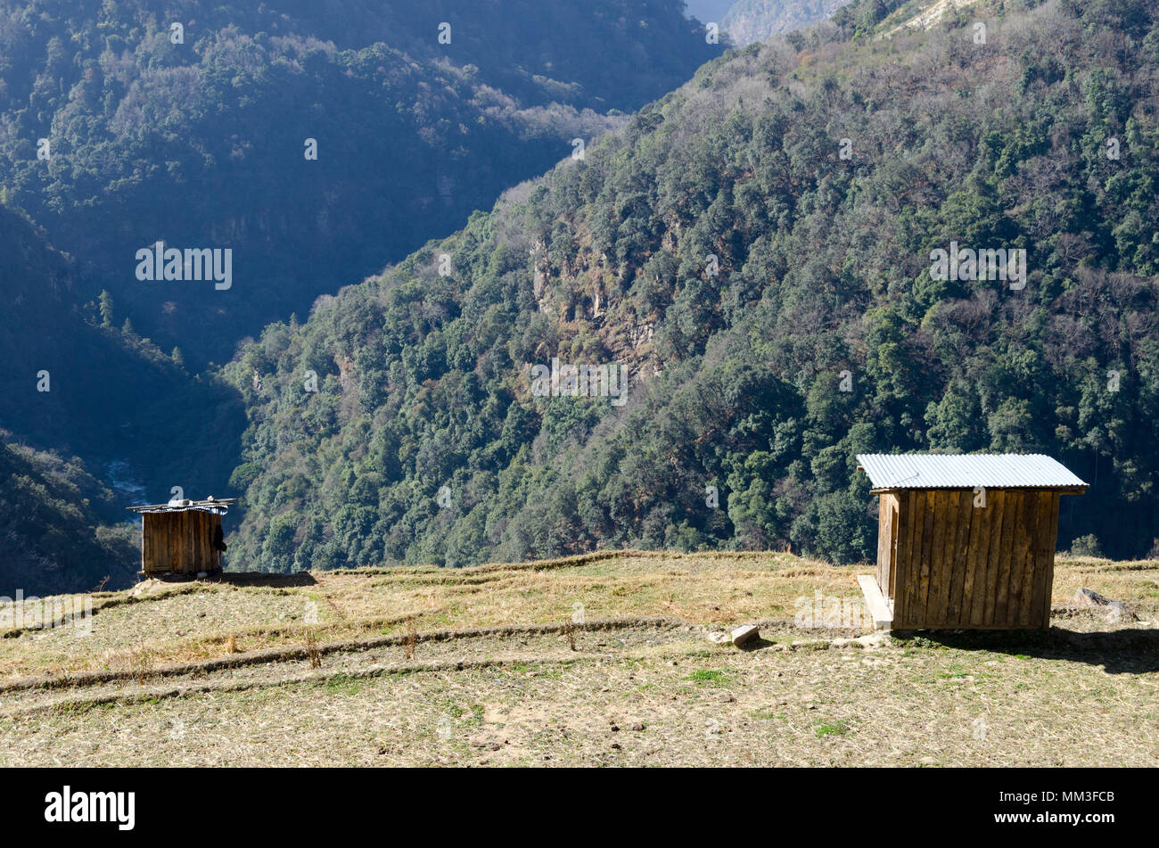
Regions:
<instances>
[{"instance_id":1,"label":"bright corrugated metal roof of the larger wooden shed","mask_svg":"<svg viewBox=\"0 0 1159 848\"><path fill-rule=\"evenodd\" d=\"M859 453L874 489L1055 489L1085 487L1056 459L1041 453Z\"/></svg>"}]
</instances>

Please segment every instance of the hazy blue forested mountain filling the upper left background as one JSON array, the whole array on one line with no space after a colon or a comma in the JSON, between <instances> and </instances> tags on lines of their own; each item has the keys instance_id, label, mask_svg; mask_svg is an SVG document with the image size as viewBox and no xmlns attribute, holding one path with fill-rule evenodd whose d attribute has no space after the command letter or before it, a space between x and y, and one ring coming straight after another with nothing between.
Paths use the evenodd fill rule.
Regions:
<instances>
[{"instance_id":1,"label":"hazy blue forested mountain filling the upper left background","mask_svg":"<svg viewBox=\"0 0 1159 848\"><path fill-rule=\"evenodd\" d=\"M721 47L681 8L0 0L0 190L201 368L687 80ZM140 282L158 241L229 287Z\"/></svg>"}]
</instances>

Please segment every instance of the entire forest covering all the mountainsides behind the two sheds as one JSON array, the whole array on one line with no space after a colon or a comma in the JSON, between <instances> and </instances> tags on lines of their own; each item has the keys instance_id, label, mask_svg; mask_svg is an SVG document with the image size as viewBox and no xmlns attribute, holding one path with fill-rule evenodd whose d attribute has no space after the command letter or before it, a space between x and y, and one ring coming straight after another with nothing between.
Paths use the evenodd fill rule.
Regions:
<instances>
[{"instance_id":1,"label":"entire forest covering all the mountainsides behind the two sheds","mask_svg":"<svg viewBox=\"0 0 1159 848\"><path fill-rule=\"evenodd\" d=\"M6 579L131 579L124 499L172 487L242 496L241 569L847 563L876 451L1051 454L1092 484L1063 547L1154 553L1159 1L921 8L628 118L719 50L677 2L484 38L493 3L0 0ZM234 286L139 283L160 239L235 248Z\"/></svg>"}]
</instances>

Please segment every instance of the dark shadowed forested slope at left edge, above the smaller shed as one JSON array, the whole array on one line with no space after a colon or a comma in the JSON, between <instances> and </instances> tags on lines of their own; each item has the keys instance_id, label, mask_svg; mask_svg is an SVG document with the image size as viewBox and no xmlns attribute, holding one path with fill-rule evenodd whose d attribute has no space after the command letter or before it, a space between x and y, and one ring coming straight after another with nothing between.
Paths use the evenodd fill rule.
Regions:
<instances>
[{"instance_id":1,"label":"dark shadowed forested slope at left edge, above the smaller shed","mask_svg":"<svg viewBox=\"0 0 1159 848\"><path fill-rule=\"evenodd\" d=\"M70 257L0 206L0 429L95 466L126 461L163 485L155 497L223 484L245 422L235 395L138 335L107 292L83 288Z\"/></svg>"}]
</instances>

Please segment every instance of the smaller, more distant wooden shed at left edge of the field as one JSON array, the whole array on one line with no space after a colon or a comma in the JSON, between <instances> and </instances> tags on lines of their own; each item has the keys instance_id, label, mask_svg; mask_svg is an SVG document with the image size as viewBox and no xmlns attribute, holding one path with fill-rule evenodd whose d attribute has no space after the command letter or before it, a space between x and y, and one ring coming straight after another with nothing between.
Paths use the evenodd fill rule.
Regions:
<instances>
[{"instance_id":1,"label":"smaller, more distant wooden shed at left edge of the field","mask_svg":"<svg viewBox=\"0 0 1159 848\"><path fill-rule=\"evenodd\" d=\"M221 517L235 498L170 500L130 506L141 517L141 573L145 577L194 578L221 571L225 541Z\"/></svg>"}]
</instances>

